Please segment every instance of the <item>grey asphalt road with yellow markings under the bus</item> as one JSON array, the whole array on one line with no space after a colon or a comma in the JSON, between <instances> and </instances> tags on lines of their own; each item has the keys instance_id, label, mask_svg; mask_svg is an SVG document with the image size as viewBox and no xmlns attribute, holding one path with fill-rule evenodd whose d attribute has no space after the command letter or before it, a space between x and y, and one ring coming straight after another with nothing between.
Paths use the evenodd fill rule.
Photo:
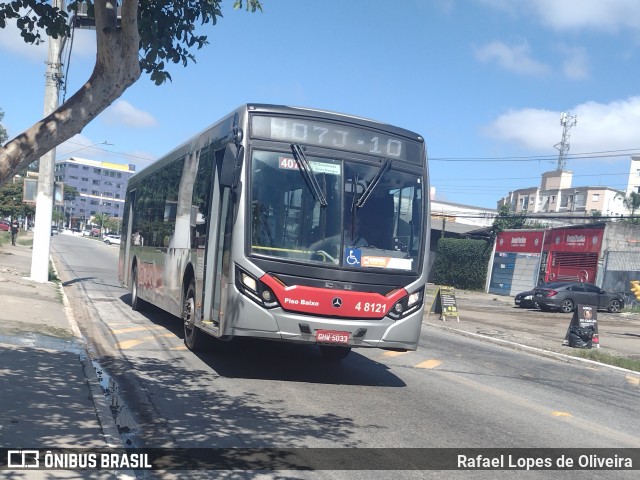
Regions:
<instances>
[{"instance_id":1,"label":"grey asphalt road with yellow markings under the bus","mask_svg":"<svg viewBox=\"0 0 640 480\"><path fill-rule=\"evenodd\" d=\"M423 329L417 352L358 349L338 364L323 361L313 346L247 339L212 340L210 353L196 355L184 347L179 319L153 308L131 310L128 292L117 280L118 247L58 235L52 249L123 441L130 444L557 447L587 453L640 447L638 388L622 372L432 328ZM335 473L316 472L314 478L341 476ZM507 473L512 474L440 472L438 477ZM562 474L601 478L602 473ZM606 474L632 478L631 473ZM423 478L415 471L393 476ZM346 472L344 478L370 476Z\"/></svg>"}]
</instances>

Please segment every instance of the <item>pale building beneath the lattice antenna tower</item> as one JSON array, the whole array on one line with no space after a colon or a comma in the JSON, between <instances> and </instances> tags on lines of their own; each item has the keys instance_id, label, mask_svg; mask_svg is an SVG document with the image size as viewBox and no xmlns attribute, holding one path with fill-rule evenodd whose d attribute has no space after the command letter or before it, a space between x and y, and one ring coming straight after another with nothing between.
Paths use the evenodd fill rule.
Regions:
<instances>
[{"instance_id":1,"label":"pale building beneath the lattice antenna tower","mask_svg":"<svg viewBox=\"0 0 640 480\"><path fill-rule=\"evenodd\" d=\"M638 169L640 170L640 158ZM553 217L558 214L561 214L563 219L576 217L577 220L592 216L619 217L628 213L624 206L624 191L603 186L573 187L572 183L573 172L546 172L542 174L539 187L509 192L498 201L498 208L509 204L511 213L535 213L543 219L545 216ZM640 188L640 175L638 185Z\"/></svg>"}]
</instances>

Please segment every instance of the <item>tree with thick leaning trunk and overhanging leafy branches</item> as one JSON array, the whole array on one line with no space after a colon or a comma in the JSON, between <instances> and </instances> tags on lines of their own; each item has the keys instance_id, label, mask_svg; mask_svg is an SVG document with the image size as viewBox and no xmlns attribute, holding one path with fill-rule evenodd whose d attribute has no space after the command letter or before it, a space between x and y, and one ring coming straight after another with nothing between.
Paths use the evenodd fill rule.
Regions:
<instances>
[{"instance_id":1,"label":"tree with thick leaning trunk and overhanging leafy branches","mask_svg":"<svg viewBox=\"0 0 640 480\"><path fill-rule=\"evenodd\" d=\"M46 118L0 148L0 186L42 155L73 137L118 99L144 71L156 85L171 80L167 63L195 62L191 52L208 43L196 23L215 25L222 0L73 0L69 11L87 5L95 18L96 63L87 82ZM119 4L120 9L116 6ZM235 9L243 0L234 0ZM262 10L261 0L246 0L246 10ZM120 13L118 21L117 12ZM16 19L23 40L38 44L43 35L70 34L69 13L48 0L0 3L0 28ZM1 133L1 132L0 132Z\"/></svg>"}]
</instances>

